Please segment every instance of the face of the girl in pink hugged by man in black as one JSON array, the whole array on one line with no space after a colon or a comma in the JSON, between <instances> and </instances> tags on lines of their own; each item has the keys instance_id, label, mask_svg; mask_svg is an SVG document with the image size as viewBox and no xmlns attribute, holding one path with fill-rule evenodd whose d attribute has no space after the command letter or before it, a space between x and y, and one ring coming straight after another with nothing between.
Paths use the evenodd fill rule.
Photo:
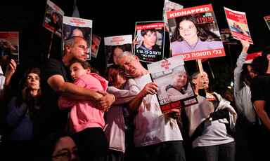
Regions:
<instances>
[{"instance_id":1,"label":"face of the girl in pink hugged by man in black","mask_svg":"<svg viewBox=\"0 0 270 161\"><path fill-rule=\"evenodd\" d=\"M84 69L82 67L82 64L80 64L79 62L75 62L73 64L71 64L70 66L70 75L73 81L77 80L77 78L79 76L81 76L82 74L86 74L86 73L91 73L91 70L89 68Z\"/></svg>"}]
</instances>

